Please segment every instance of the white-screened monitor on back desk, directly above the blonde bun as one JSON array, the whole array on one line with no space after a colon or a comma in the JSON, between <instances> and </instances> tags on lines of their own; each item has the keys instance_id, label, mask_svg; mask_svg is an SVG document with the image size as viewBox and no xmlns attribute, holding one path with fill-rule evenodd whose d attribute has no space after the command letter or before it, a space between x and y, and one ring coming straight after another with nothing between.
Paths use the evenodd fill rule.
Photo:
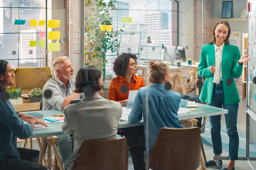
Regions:
<instances>
[{"instance_id":1,"label":"white-screened monitor on back desk, directly above the blonde bun","mask_svg":"<svg viewBox=\"0 0 256 170\"><path fill-rule=\"evenodd\" d=\"M162 60L162 47L155 46L141 46L143 48L140 51L140 60ZM153 49L155 48L155 50Z\"/></svg>"}]
</instances>

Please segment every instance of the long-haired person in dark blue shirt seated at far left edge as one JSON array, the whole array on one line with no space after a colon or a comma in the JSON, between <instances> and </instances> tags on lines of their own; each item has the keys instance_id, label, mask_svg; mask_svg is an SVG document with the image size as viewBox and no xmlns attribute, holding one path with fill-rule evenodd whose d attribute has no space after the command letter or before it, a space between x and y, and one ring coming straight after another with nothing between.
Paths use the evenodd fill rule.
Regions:
<instances>
[{"instance_id":1,"label":"long-haired person in dark blue shirt seated at far left edge","mask_svg":"<svg viewBox=\"0 0 256 170\"><path fill-rule=\"evenodd\" d=\"M38 118L15 112L6 96L8 94L3 94L8 86L13 85L14 76L10 64L0 60L0 169L47 170L37 164L39 151L17 148L16 137L27 139L32 135L35 124L47 125ZM24 124L22 120L28 123Z\"/></svg>"}]
</instances>

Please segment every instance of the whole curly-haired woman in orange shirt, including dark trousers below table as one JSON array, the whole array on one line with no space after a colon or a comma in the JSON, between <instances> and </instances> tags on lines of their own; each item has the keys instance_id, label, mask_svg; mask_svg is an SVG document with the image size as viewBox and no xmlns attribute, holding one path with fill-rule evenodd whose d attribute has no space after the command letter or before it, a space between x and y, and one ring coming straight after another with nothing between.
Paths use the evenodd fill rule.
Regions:
<instances>
[{"instance_id":1,"label":"whole curly-haired woman in orange shirt, including dark trousers below table","mask_svg":"<svg viewBox=\"0 0 256 170\"><path fill-rule=\"evenodd\" d=\"M113 71L117 77L110 82L109 100L114 100L119 103L127 103L130 90L139 90L141 87L145 86L143 78L134 75L138 73L137 60L138 57L131 53L122 53L115 59L113 63ZM134 170L145 170L144 126L123 128L122 131L127 140L127 146L131 153Z\"/></svg>"}]
</instances>

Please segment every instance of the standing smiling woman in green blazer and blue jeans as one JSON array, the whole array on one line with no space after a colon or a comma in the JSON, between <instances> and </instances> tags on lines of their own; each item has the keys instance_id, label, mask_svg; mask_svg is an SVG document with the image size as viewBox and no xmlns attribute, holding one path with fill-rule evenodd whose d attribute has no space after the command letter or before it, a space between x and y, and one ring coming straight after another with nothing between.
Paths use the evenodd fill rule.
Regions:
<instances>
[{"instance_id":1,"label":"standing smiling woman in green blazer and blue jeans","mask_svg":"<svg viewBox=\"0 0 256 170\"><path fill-rule=\"evenodd\" d=\"M234 170L238 159L239 137L237 132L237 112L239 94L234 78L242 74L242 65L251 58L241 57L237 46L229 44L230 26L227 21L219 21L213 29L212 40L203 45L198 66L198 75L206 77L200 94L200 100L210 106L228 110L225 114L227 134L229 136L229 162L223 170ZM213 153L222 153L221 115L210 116ZM221 161L220 161L221 162ZM215 160L205 162L207 167L215 166Z\"/></svg>"}]
</instances>

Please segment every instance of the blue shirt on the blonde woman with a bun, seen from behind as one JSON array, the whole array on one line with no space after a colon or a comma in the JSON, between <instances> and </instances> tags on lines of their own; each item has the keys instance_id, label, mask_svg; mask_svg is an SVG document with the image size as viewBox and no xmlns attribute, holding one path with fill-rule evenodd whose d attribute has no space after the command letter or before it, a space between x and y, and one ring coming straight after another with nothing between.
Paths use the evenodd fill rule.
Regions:
<instances>
[{"instance_id":1,"label":"blue shirt on the blonde woman with a bun, seen from behind","mask_svg":"<svg viewBox=\"0 0 256 170\"><path fill-rule=\"evenodd\" d=\"M131 123L144 119L146 127L146 97L148 96L148 131L149 150L152 150L159 130L163 127L183 128L179 123L177 111L179 110L181 96L179 93L166 90L163 84L153 84L139 89L129 115ZM146 129L145 129L146 131Z\"/></svg>"}]
</instances>

